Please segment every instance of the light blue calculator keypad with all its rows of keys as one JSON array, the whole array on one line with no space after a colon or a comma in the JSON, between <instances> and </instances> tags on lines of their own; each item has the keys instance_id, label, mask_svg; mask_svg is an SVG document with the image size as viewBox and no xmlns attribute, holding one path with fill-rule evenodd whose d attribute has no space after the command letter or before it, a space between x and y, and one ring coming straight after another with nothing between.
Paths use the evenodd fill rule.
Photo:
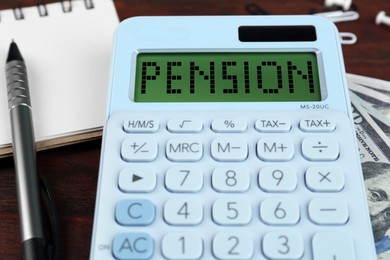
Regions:
<instances>
[{"instance_id":1,"label":"light blue calculator keypad with all its rows of keys","mask_svg":"<svg viewBox=\"0 0 390 260\"><path fill-rule=\"evenodd\" d=\"M113 258L354 259L365 204L344 115L210 117L111 119Z\"/></svg>"}]
</instances>

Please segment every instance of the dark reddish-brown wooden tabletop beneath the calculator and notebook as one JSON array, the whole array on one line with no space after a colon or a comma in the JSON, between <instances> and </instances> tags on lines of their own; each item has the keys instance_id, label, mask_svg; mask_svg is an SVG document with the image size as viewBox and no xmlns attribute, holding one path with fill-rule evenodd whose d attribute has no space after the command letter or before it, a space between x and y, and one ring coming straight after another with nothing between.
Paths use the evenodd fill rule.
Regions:
<instances>
[{"instance_id":1,"label":"dark reddish-brown wooden tabletop beneath the calculator and notebook","mask_svg":"<svg viewBox=\"0 0 390 260\"><path fill-rule=\"evenodd\" d=\"M0 10L43 2L58 1L1 0ZM321 8L324 1L115 1L120 20L139 15L246 15L249 14L246 10L249 3L256 3L271 14L308 14L315 8ZM360 19L337 24L340 31L353 32L358 37L356 44L343 46L346 70L390 80L390 27L377 26L374 22L380 10L390 15L390 1L355 0L354 5ZM3 26L1 22L0 26ZM3 60L5 58L0 57ZM4 84L0 84L2 88L5 88ZM99 139L37 154L39 173L47 180L58 207L60 259L89 257L100 143ZM12 157L0 159L0 259L20 259L19 217Z\"/></svg>"}]
</instances>

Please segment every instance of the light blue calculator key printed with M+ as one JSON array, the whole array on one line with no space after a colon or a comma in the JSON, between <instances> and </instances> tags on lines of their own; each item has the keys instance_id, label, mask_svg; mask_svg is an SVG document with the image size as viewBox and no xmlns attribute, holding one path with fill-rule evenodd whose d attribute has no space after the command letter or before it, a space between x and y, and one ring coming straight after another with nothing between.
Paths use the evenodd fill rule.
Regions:
<instances>
[{"instance_id":1,"label":"light blue calculator key printed with M+","mask_svg":"<svg viewBox=\"0 0 390 260\"><path fill-rule=\"evenodd\" d=\"M289 161L294 156L294 145L285 137L266 137L257 143L257 156L263 161Z\"/></svg>"}]
</instances>

